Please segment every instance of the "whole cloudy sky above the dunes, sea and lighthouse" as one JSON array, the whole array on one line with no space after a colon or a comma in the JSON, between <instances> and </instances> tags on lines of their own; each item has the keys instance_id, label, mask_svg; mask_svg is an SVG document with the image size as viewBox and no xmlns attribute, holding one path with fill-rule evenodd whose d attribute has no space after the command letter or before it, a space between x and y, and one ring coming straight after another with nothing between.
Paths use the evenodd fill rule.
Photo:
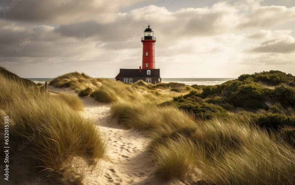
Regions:
<instances>
[{"instance_id":1,"label":"whole cloudy sky above the dunes, sea and lighthouse","mask_svg":"<svg viewBox=\"0 0 295 185\"><path fill-rule=\"evenodd\" d=\"M154 31L161 77L295 75L293 0L0 0L0 65L25 78L115 77Z\"/></svg>"}]
</instances>

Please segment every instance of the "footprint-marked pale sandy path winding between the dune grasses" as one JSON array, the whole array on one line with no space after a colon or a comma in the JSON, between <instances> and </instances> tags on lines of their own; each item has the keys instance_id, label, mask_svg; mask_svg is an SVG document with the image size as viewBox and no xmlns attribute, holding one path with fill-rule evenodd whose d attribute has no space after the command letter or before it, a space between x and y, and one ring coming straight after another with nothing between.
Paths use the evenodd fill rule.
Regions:
<instances>
[{"instance_id":1,"label":"footprint-marked pale sandy path winding between the dune grasses","mask_svg":"<svg viewBox=\"0 0 295 185\"><path fill-rule=\"evenodd\" d=\"M145 146L149 138L137 131L129 131L110 123L110 106L94 98L82 98L84 114L95 119L108 144L109 161L102 161L102 175L90 175L85 184L145 184L150 175L145 164Z\"/></svg>"}]
</instances>

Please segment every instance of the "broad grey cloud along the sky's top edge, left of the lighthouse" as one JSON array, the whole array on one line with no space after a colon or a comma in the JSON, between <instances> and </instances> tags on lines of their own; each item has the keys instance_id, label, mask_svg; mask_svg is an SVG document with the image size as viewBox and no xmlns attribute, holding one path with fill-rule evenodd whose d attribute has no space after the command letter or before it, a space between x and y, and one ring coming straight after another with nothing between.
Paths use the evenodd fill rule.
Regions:
<instances>
[{"instance_id":1,"label":"broad grey cloud along the sky's top edge, left of the lighthouse","mask_svg":"<svg viewBox=\"0 0 295 185\"><path fill-rule=\"evenodd\" d=\"M4 0L1 4L0 19L37 22L48 19L56 24L71 24L85 21L106 22L119 12L120 8L136 4L143 0L26 0L7 11L12 1ZM11 6L12 7L12 6ZM8 8L9 9L9 8ZM102 16L101 14L108 16Z\"/></svg>"}]
</instances>

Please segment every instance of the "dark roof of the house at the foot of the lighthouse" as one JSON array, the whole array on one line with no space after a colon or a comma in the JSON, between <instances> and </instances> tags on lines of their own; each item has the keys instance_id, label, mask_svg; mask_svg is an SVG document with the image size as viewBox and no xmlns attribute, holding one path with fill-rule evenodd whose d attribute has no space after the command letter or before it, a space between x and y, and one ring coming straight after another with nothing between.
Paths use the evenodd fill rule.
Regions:
<instances>
[{"instance_id":1,"label":"dark roof of the house at the foot of the lighthouse","mask_svg":"<svg viewBox=\"0 0 295 185\"><path fill-rule=\"evenodd\" d=\"M150 75L147 71L150 70ZM119 78L160 78L160 69L120 69Z\"/></svg>"}]
</instances>

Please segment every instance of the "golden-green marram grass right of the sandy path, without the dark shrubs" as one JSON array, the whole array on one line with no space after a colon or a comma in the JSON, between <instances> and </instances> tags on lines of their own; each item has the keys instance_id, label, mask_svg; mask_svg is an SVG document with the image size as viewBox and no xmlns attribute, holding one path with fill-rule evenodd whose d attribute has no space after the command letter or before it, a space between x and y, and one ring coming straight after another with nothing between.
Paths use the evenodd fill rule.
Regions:
<instances>
[{"instance_id":1,"label":"golden-green marram grass right of the sandy path, without the dark shrubs","mask_svg":"<svg viewBox=\"0 0 295 185\"><path fill-rule=\"evenodd\" d=\"M113 117L124 127L144 131L152 138L147 147L147 162L153 166L153 174L159 181L173 178L186 184L295 181L294 148L278 141L272 131L266 132L253 124L253 113L244 111L240 115L228 106L226 118L212 115L204 120L175 106L159 106L173 96L192 90L186 85L98 81L101 84L92 96L111 103ZM181 93L165 93L169 86L180 89ZM293 109L282 111L294 114ZM262 112L257 114L263 115Z\"/></svg>"}]
</instances>

